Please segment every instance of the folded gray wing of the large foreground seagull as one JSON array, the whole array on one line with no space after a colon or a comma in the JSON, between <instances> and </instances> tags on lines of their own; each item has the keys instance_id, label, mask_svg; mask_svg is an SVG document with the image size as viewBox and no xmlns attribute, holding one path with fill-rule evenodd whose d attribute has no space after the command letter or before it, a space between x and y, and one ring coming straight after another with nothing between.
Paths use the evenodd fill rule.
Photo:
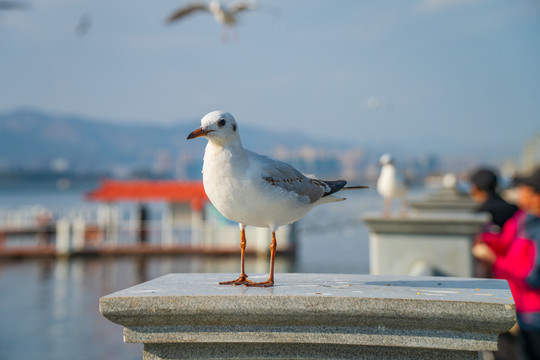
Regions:
<instances>
[{"instance_id":1,"label":"folded gray wing of the large foreground seagull","mask_svg":"<svg viewBox=\"0 0 540 360\"><path fill-rule=\"evenodd\" d=\"M320 200L331 192L324 181L311 179L282 161L254 154L261 165L262 180L271 186L294 192L299 197L307 196L310 203Z\"/></svg>"}]
</instances>

